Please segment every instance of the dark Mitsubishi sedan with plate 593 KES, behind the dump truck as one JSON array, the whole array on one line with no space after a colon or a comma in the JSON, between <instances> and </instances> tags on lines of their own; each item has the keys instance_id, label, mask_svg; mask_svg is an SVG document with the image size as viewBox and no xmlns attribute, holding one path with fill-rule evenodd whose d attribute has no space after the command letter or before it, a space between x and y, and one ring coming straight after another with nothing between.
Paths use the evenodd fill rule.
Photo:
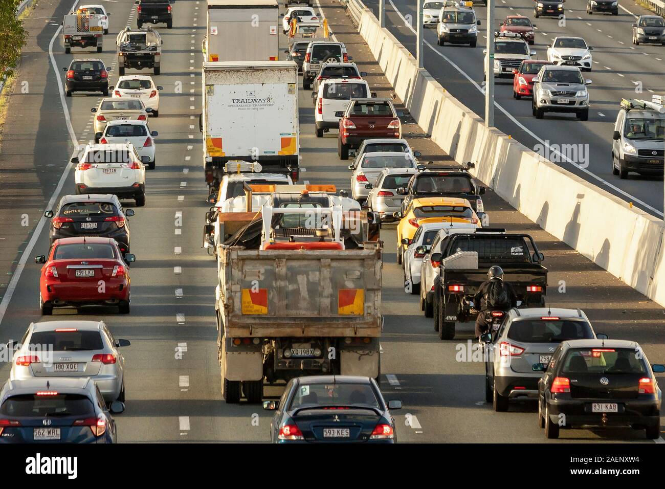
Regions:
<instances>
[{"instance_id":1,"label":"dark Mitsubishi sedan with plate 593 KES, behind the dump truck","mask_svg":"<svg viewBox=\"0 0 665 489\"><path fill-rule=\"evenodd\" d=\"M275 410L271 421L273 443L396 442L394 419L374 379L350 375L291 379L279 401L265 401Z\"/></svg>"}]
</instances>

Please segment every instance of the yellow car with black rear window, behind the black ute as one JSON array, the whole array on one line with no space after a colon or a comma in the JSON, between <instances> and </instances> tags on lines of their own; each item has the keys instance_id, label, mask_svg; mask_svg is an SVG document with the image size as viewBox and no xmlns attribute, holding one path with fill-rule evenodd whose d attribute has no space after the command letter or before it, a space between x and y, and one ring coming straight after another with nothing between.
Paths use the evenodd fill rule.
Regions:
<instances>
[{"instance_id":1,"label":"yellow car with black rear window, behind the black ute","mask_svg":"<svg viewBox=\"0 0 665 489\"><path fill-rule=\"evenodd\" d=\"M471 223L481 228L481 221L468 200L456 197L425 197L414 199L406 212L395 212L397 225L397 263L402 264L402 253L411 243L416 230L426 222Z\"/></svg>"}]
</instances>

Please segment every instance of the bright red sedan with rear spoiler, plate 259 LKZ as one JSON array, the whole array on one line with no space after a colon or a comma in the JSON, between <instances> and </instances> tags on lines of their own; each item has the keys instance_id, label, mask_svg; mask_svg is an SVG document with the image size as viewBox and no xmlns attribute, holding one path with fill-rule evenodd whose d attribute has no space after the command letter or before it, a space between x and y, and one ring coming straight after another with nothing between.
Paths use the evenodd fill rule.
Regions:
<instances>
[{"instance_id":1,"label":"bright red sedan with rear spoiler, plate 259 LKZ","mask_svg":"<svg viewBox=\"0 0 665 489\"><path fill-rule=\"evenodd\" d=\"M129 313L129 263L131 253L122 255L110 238L63 238L55 240L43 263L39 284L39 305L43 315L53 307L117 305L121 314Z\"/></svg>"}]
</instances>

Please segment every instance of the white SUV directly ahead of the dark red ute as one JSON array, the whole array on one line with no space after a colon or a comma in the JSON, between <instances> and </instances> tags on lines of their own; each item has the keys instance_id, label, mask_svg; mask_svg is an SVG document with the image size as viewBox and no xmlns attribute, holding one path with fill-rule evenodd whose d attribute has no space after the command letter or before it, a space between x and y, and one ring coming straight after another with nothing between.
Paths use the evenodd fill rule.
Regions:
<instances>
[{"instance_id":1,"label":"white SUV directly ahead of the dark red ute","mask_svg":"<svg viewBox=\"0 0 665 489\"><path fill-rule=\"evenodd\" d=\"M313 92L314 119L317 127L317 138L331 128L339 127L339 118L335 112L344 112L352 98L369 98L376 96L370 93L368 82L358 79L331 78L324 80L318 92Z\"/></svg>"}]
</instances>

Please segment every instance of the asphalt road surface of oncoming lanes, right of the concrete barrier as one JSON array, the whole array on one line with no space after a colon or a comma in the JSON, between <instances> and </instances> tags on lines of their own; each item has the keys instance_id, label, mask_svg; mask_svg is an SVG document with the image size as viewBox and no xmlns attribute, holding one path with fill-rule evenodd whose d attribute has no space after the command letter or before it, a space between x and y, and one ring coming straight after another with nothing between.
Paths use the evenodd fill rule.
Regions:
<instances>
[{"instance_id":1,"label":"asphalt road surface of oncoming lanes, right of the concrete barrier","mask_svg":"<svg viewBox=\"0 0 665 489\"><path fill-rule=\"evenodd\" d=\"M378 1L367 0L365 4L378 16ZM535 45L531 47L536 52L535 59L547 59L547 45L557 36L583 37L594 47L593 71L583 73L593 81L589 86L588 121L581 122L569 114L547 114L543 120L538 120L531 114L530 98L513 98L512 79L496 79L495 125L533 150L537 150L538 145L551 145L550 154L560 150L562 144L581 145L577 148L585 151L585 160L563 152L565 158L559 155L551 158L558 158L561 160L558 164L604 190L654 216L662 216L662 178L630 174L628 180L620 180L612 175L611 153L612 131L621 98L651 100L652 93L664 92L665 47L632 45L632 24L636 17L652 14L644 7L632 1L620 1L619 15L615 17L589 15L586 4L584 0L568 0L563 23L551 17L535 19L530 0L495 2L492 32L499 29L508 15L525 15L537 26ZM487 39L487 9L476 4L474 10L481 21L477 47L450 43L440 47L436 43L436 29L425 29L424 63L425 69L446 90L473 112L484 116L483 49ZM386 0L386 27L415 56L416 1Z\"/></svg>"}]
</instances>

